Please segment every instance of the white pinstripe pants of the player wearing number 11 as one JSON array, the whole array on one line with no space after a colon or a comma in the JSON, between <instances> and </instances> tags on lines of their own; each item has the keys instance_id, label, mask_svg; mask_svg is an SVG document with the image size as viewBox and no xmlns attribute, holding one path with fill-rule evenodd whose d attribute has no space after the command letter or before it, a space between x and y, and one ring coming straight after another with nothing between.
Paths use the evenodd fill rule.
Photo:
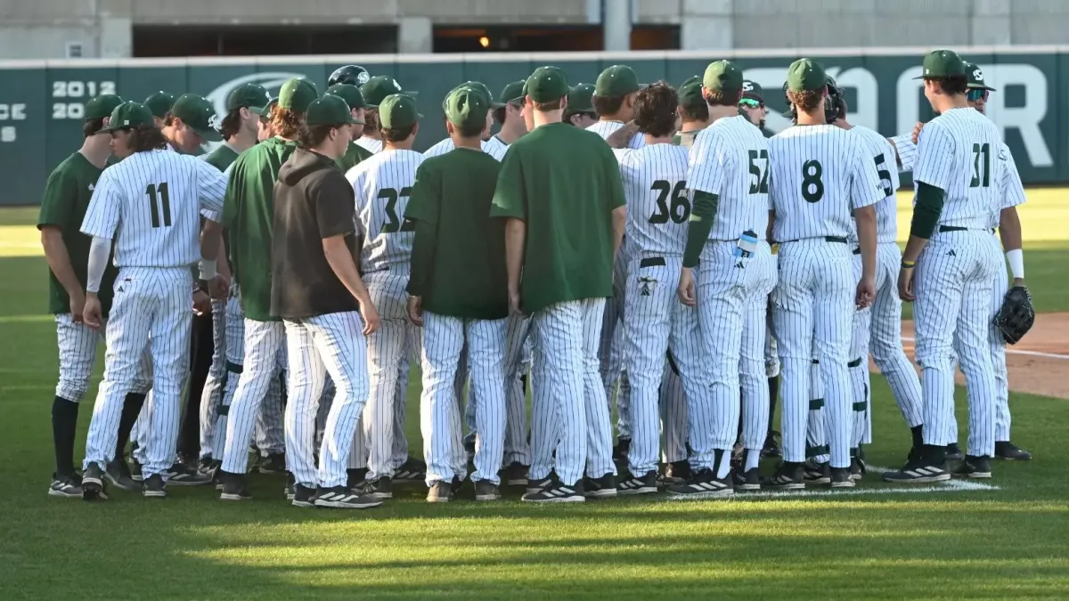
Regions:
<instances>
[{"instance_id":1,"label":"white pinstripe pants of the player wearing number 11","mask_svg":"<svg viewBox=\"0 0 1069 601\"><path fill-rule=\"evenodd\" d=\"M104 380L86 441L83 468L114 459L123 402L148 344L153 359L153 402L145 403L150 434L142 474L165 479L174 462L182 414L182 382L189 366L192 278L188 267L123 267L115 278L107 326Z\"/></svg>"}]
</instances>

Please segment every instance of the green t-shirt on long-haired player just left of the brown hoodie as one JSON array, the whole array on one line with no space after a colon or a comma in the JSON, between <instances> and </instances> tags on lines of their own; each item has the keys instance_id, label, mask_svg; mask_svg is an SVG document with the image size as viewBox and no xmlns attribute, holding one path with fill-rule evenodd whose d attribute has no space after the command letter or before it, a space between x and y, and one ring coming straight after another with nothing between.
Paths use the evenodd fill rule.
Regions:
<instances>
[{"instance_id":1,"label":"green t-shirt on long-haired player just left of the brown hoodie","mask_svg":"<svg viewBox=\"0 0 1069 601\"><path fill-rule=\"evenodd\" d=\"M241 288L242 308L250 320L270 317L270 248L275 220L275 180L296 142L264 140L238 155L222 202L222 226L230 244L230 269Z\"/></svg>"}]
</instances>

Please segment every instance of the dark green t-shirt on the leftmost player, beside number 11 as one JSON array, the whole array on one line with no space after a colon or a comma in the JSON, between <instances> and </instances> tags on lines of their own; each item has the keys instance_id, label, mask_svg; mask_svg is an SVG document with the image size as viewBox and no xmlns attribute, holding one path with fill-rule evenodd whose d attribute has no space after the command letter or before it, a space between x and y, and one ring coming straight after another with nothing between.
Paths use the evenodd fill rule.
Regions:
<instances>
[{"instance_id":1,"label":"dark green t-shirt on the leftmost player, beside number 11","mask_svg":"<svg viewBox=\"0 0 1069 601\"><path fill-rule=\"evenodd\" d=\"M71 257L71 267L82 290L86 289L89 245L93 238L81 233L81 222L86 218L86 210L89 209L89 200L93 197L96 180L103 172L103 169L97 169L80 152L66 157L48 176L45 196L41 200L41 214L37 217L38 230L46 226L60 229L63 244ZM105 315L111 308L112 287L118 273L119 269L109 259L98 293ZM57 314L71 312L71 297L51 269L48 271L48 311Z\"/></svg>"}]
</instances>

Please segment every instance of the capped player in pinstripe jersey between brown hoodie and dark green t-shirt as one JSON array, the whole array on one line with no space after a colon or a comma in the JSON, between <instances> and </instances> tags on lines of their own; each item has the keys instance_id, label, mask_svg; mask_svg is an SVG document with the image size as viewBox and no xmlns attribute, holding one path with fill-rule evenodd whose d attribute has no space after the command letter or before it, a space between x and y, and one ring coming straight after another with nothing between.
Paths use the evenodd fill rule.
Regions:
<instances>
[{"instance_id":1,"label":"capped player in pinstripe jersey between brown hoodie and dark green t-shirt","mask_svg":"<svg viewBox=\"0 0 1069 601\"><path fill-rule=\"evenodd\" d=\"M375 81L372 78L370 86ZM363 430L370 452L365 491L378 498L393 496L391 481L398 468L393 458L396 423L405 396L397 390L402 358L419 352L419 330L407 321L408 283L414 224L404 219L416 169L423 155L412 150L419 132L416 102L390 94L378 104L382 152L345 174L356 196L356 215L363 233L360 273L382 317L382 327L368 337L371 377Z\"/></svg>"}]
</instances>

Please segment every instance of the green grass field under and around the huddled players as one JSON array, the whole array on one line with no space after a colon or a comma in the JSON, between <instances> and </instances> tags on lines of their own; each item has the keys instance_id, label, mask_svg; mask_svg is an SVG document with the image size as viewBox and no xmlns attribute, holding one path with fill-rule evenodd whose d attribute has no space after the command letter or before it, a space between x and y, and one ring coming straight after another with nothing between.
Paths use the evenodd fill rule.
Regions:
<instances>
[{"instance_id":1,"label":"green grass field under and around the huddled players","mask_svg":"<svg viewBox=\"0 0 1069 601\"><path fill-rule=\"evenodd\" d=\"M1064 194L1029 190L1022 209L1044 311L1069 309ZM1069 403L1027 395L1011 399L1013 437L1036 459L997 463L989 487L902 491L869 474L850 494L530 507L515 493L431 506L409 486L345 513L288 506L272 476L250 477L255 498L234 505L206 489L155 503L48 497L56 334L35 218L0 211L0 599L1069 598ZM908 431L884 380L873 386L868 459L897 465Z\"/></svg>"}]
</instances>

